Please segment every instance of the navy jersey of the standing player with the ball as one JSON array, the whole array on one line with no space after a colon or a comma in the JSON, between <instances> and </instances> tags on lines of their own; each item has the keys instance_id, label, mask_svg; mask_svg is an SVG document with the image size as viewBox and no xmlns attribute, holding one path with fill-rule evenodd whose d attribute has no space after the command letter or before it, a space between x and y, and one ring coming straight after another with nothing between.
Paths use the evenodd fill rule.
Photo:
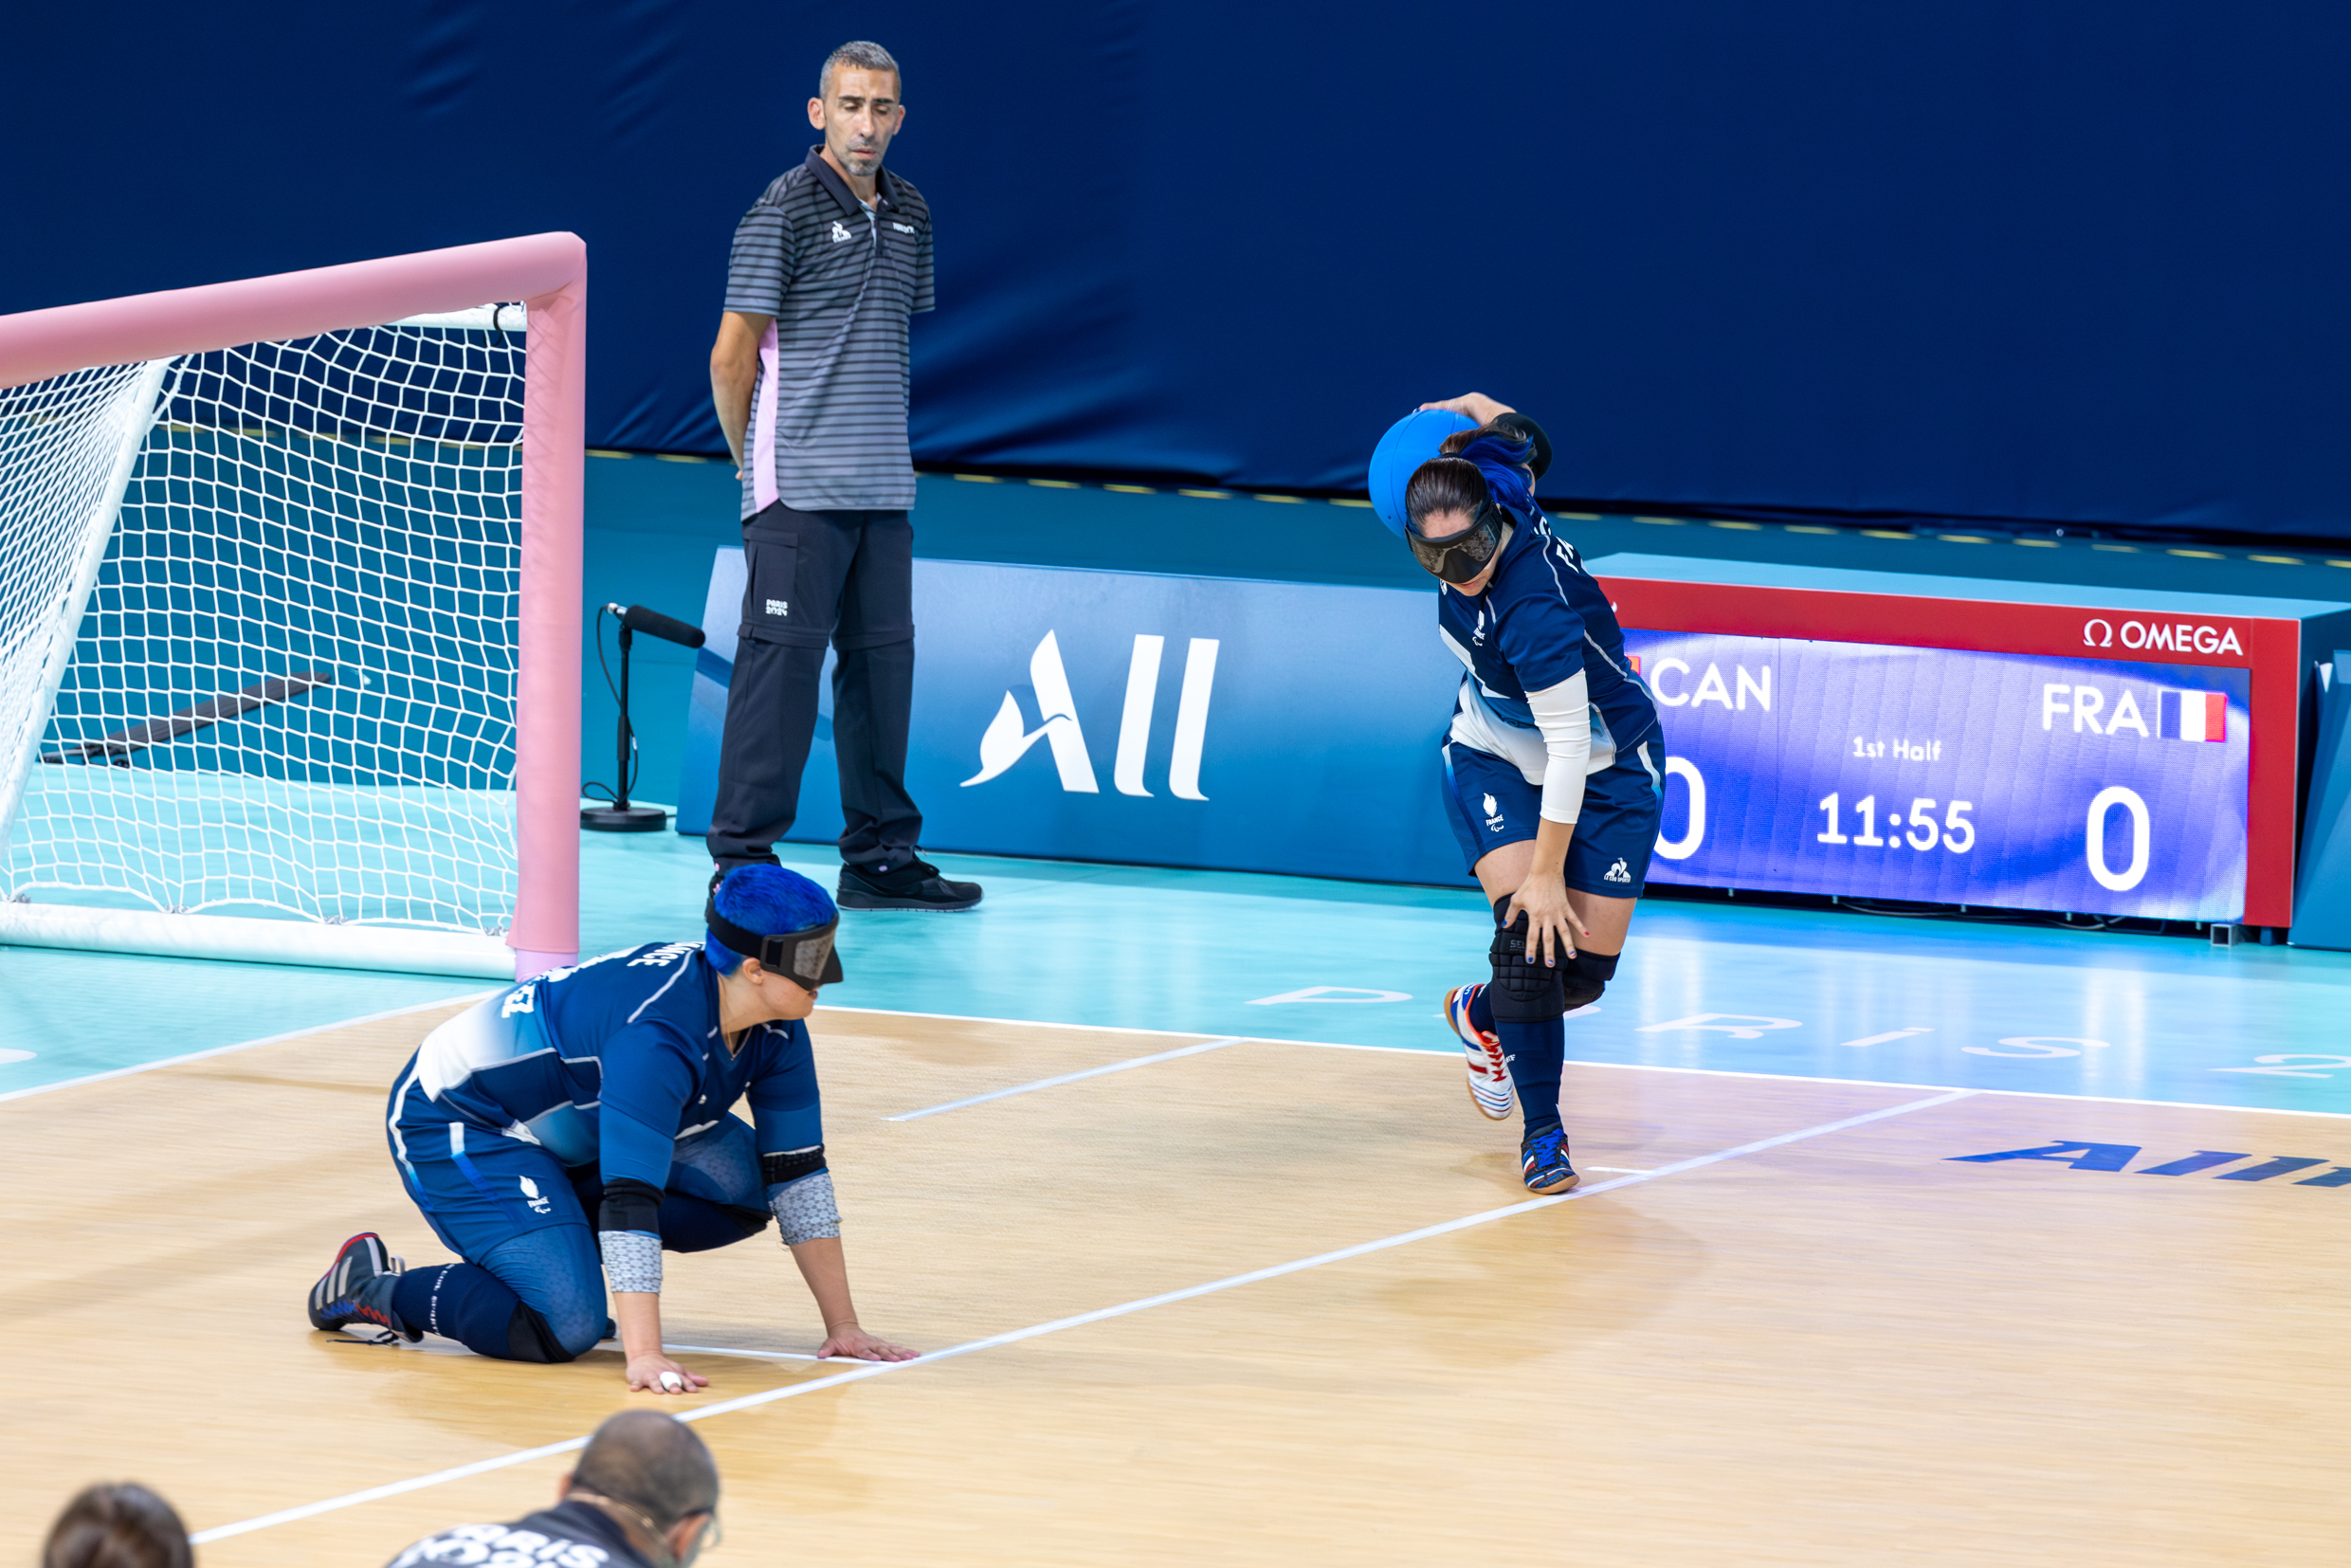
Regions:
<instances>
[{"instance_id":1,"label":"navy jersey of the standing player with the ball","mask_svg":"<svg viewBox=\"0 0 2351 1568\"><path fill-rule=\"evenodd\" d=\"M1509 543L1479 597L1436 590L1436 635L1469 665L1486 708L1507 724L1535 729L1528 691L1545 691L1578 670L1606 738L1625 752L1657 731L1657 705L1625 656L1625 628L1608 595L1585 571L1575 545L1552 520L1512 512ZM1601 736L1594 736L1599 741Z\"/></svg>"}]
</instances>

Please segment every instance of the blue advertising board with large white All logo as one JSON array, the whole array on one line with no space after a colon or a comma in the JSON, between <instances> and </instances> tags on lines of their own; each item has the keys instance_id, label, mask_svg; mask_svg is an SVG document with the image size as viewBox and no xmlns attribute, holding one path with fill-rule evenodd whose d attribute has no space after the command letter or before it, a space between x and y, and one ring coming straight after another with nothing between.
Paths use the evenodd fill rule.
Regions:
<instances>
[{"instance_id":1,"label":"blue advertising board with large white All logo","mask_svg":"<svg viewBox=\"0 0 2351 1568\"><path fill-rule=\"evenodd\" d=\"M679 832L708 832L743 552L717 550ZM915 562L924 846L1467 884L1427 592ZM830 670L830 665L828 665ZM832 682L792 839L842 830Z\"/></svg>"}]
</instances>

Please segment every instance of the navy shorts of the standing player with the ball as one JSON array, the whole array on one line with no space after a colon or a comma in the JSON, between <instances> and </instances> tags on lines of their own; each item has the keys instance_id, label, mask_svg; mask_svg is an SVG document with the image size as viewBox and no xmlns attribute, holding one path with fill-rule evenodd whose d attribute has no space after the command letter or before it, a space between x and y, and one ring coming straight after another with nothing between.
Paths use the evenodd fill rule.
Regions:
<instances>
[{"instance_id":1,"label":"navy shorts of the standing player with the ball","mask_svg":"<svg viewBox=\"0 0 2351 1568\"><path fill-rule=\"evenodd\" d=\"M1467 745L1444 748L1446 820L1462 844L1469 875L1505 844L1535 837L1542 785L1512 762ZM1603 898L1639 898L1665 813L1665 748L1648 738L1585 778L1585 809L1568 842L1568 886Z\"/></svg>"}]
</instances>

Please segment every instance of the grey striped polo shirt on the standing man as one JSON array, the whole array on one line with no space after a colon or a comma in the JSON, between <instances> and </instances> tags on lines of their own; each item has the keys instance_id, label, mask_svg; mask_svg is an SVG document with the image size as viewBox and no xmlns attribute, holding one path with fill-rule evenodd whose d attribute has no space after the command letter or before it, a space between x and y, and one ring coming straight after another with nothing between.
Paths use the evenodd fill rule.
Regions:
<instances>
[{"instance_id":1,"label":"grey striped polo shirt on the standing man","mask_svg":"<svg viewBox=\"0 0 2351 1568\"><path fill-rule=\"evenodd\" d=\"M907 317L931 310L931 207L882 169L875 209L823 148L736 226L726 308L773 317L759 343L743 454L743 515L905 510Z\"/></svg>"}]
</instances>

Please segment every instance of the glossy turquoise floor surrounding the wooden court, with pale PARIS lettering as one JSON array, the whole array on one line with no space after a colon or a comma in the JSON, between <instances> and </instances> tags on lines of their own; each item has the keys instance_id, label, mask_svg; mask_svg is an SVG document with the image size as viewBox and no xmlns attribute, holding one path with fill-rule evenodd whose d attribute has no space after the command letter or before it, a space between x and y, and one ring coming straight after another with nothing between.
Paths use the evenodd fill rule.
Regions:
<instances>
[{"instance_id":1,"label":"glossy turquoise floor surrounding the wooden court, with pale PARIS lettering","mask_svg":"<svg viewBox=\"0 0 2351 1568\"><path fill-rule=\"evenodd\" d=\"M785 860L832 882L828 846ZM938 856L971 914L856 914L828 1004L1451 1051L1476 893ZM583 947L698 929L675 835L583 851ZM461 997L480 983L0 947L0 1095ZM1138 1056L1152 1051L1138 1041ZM2351 954L1846 912L1650 903L1568 1056L2351 1114ZM1037 1074L1053 1032L1037 1034Z\"/></svg>"}]
</instances>

